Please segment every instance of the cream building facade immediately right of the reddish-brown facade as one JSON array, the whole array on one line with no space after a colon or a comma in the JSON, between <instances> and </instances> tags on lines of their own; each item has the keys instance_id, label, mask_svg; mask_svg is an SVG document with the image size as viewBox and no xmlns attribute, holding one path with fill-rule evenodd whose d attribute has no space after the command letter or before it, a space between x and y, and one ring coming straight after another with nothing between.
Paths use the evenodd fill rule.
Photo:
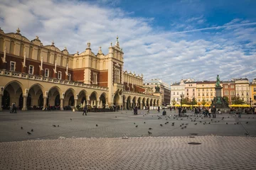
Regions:
<instances>
[{"instance_id":1,"label":"cream building facade immediately right of the reddish-brown facade","mask_svg":"<svg viewBox=\"0 0 256 170\"><path fill-rule=\"evenodd\" d=\"M247 78L233 79L235 81L235 93L245 103L250 103L249 80Z\"/></svg>"}]
</instances>

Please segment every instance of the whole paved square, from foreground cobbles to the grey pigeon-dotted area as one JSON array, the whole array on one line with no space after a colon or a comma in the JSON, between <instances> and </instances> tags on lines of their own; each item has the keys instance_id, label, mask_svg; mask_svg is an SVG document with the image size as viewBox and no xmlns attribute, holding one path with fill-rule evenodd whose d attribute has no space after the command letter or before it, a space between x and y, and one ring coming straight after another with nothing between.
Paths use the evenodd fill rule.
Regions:
<instances>
[{"instance_id":1,"label":"whole paved square, from foreground cobbles to the grey pigeon-dotted area","mask_svg":"<svg viewBox=\"0 0 256 170\"><path fill-rule=\"evenodd\" d=\"M0 169L255 169L255 115L176 114L2 112Z\"/></svg>"}]
</instances>

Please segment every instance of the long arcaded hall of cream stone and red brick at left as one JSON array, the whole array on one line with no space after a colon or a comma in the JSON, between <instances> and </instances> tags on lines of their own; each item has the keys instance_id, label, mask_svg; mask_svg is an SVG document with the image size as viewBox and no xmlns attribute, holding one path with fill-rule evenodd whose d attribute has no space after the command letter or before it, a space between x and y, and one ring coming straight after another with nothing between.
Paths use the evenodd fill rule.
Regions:
<instances>
[{"instance_id":1,"label":"long arcaded hall of cream stone and red brick at left","mask_svg":"<svg viewBox=\"0 0 256 170\"><path fill-rule=\"evenodd\" d=\"M143 75L124 72L124 52L117 42L108 54L97 55L90 49L69 54L43 45L38 36L28 40L0 28L0 103L8 109L11 103L26 111L32 106L119 106L123 109L161 106L161 95L143 86ZM151 108L152 108L151 107Z\"/></svg>"}]
</instances>

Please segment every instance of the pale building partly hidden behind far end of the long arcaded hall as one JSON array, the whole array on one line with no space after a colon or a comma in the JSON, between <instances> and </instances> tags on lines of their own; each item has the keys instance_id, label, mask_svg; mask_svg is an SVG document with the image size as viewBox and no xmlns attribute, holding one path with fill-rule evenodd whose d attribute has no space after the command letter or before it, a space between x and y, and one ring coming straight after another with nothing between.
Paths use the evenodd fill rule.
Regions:
<instances>
[{"instance_id":1,"label":"pale building partly hidden behind far end of the long arcaded hall","mask_svg":"<svg viewBox=\"0 0 256 170\"><path fill-rule=\"evenodd\" d=\"M169 105L171 102L171 88L169 84L164 83L161 79L150 79L144 83L144 87L150 87L153 92L156 91L156 86L160 88L162 105Z\"/></svg>"}]
</instances>

